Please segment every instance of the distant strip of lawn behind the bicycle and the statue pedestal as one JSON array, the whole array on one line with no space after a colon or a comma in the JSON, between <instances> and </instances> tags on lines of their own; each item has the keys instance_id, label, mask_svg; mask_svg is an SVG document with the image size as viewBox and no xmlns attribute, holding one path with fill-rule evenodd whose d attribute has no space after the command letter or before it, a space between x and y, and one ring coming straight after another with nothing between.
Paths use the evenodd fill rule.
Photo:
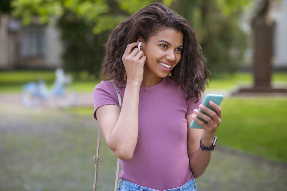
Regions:
<instances>
[{"instance_id":1,"label":"distant strip of lawn behind the bicycle and the statue pedestal","mask_svg":"<svg viewBox=\"0 0 287 191\"><path fill-rule=\"evenodd\" d=\"M82 75L80 80L75 80L73 86L78 92L91 92L94 87L100 82L100 79L89 78ZM14 71L0 72L0 92L21 92L22 86L30 81L44 79L48 87L51 87L55 80L53 71ZM87 80L93 79L93 80ZM221 78L212 78L208 90L222 89L228 90L238 85L252 85L253 76L250 73L236 73L234 75L222 75ZM272 84L287 86L287 72L276 72L272 76Z\"/></svg>"}]
</instances>

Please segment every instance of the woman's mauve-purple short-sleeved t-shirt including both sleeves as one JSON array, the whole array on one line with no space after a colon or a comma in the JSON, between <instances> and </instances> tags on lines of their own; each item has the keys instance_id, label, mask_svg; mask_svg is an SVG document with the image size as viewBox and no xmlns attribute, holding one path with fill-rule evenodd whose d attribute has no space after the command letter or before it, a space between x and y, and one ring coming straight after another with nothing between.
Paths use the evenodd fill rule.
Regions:
<instances>
[{"instance_id":1,"label":"woman's mauve-purple short-sleeved t-shirt including both sleeves","mask_svg":"<svg viewBox=\"0 0 287 191\"><path fill-rule=\"evenodd\" d=\"M125 84L115 82L123 101ZM193 178L185 116L193 113L202 99L194 103L196 99L186 98L181 86L169 76L158 84L140 88L137 145L131 160L120 160L120 178L155 190L177 188ZM95 119L96 109L109 104L119 105L117 92L111 82L101 81L94 89Z\"/></svg>"}]
</instances>

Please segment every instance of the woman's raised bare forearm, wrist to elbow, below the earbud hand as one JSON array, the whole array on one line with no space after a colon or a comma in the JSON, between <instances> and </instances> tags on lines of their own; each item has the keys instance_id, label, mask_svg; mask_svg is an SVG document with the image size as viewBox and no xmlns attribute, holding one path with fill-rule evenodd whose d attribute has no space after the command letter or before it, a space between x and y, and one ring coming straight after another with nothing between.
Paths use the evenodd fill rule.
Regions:
<instances>
[{"instance_id":1,"label":"woman's raised bare forearm, wrist to elbow, below the earbud hand","mask_svg":"<svg viewBox=\"0 0 287 191\"><path fill-rule=\"evenodd\" d=\"M114 152L126 160L131 159L137 144L139 88L140 83L127 83L121 113L110 136Z\"/></svg>"}]
</instances>

